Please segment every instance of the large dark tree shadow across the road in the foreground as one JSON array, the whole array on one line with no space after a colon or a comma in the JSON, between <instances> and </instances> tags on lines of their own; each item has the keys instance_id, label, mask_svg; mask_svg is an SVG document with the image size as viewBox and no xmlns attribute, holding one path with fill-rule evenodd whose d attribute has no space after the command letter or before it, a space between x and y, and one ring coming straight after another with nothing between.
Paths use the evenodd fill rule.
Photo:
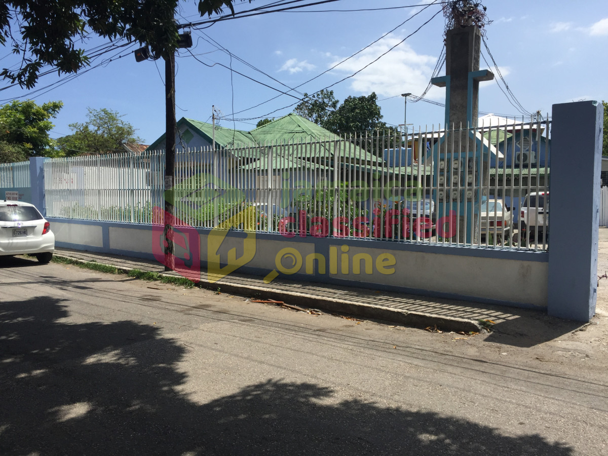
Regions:
<instances>
[{"instance_id":1,"label":"large dark tree shadow across the road in the foreground","mask_svg":"<svg viewBox=\"0 0 608 456\"><path fill-rule=\"evenodd\" d=\"M52 297L0 303L0 454L572 454L311 383L269 379L199 404L179 392L178 363L195 355L157 326L77 321Z\"/></svg>"}]
</instances>

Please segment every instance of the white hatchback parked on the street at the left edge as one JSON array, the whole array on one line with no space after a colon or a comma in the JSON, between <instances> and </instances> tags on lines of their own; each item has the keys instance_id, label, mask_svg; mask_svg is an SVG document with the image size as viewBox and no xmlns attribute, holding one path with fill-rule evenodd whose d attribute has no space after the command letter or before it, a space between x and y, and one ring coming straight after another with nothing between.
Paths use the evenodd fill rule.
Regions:
<instances>
[{"instance_id":1,"label":"white hatchback parked on the street at the left edge","mask_svg":"<svg viewBox=\"0 0 608 456\"><path fill-rule=\"evenodd\" d=\"M0 256L33 254L49 263L55 251L50 223L33 204L0 201Z\"/></svg>"}]
</instances>

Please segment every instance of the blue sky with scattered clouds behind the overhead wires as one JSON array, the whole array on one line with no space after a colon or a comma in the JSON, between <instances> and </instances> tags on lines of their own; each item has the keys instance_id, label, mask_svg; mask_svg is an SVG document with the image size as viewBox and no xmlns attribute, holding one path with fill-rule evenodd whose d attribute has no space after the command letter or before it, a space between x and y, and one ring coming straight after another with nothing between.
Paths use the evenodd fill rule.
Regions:
<instances>
[{"instance_id":1,"label":"blue sky with scattered clouds behind the overhead wires","mask_svg":"<svg viewBox=\"0 0 608 456\"><path fill-rule=\"evenodd\" d=\"M288 91L285 86L295 88L325 72L395 29L422 7L365 12L304 11L400 7L430 2L339 0L308 7L302 9L303 12L272 13L218 22L204 30L192 29L195 46L190 51L202 62L215 66L206 66L185 50L179 52L176 116L210 122L212 105L215 105L223 113L222 126L251 130L257 118L283 116L293 108L286 106L297 103L288 95L268 102L279 92L241 75L231 75L229 69L217 64L230 67L229 55L218 47L229 50L268 76L232 58L235 71ZM269 3L271 0L244 2L237 4L237 10ZM608 100L608 4L605 0L486 0L483 4L493 21L486 27L489 50L525 111L540 109L550 114L554 103ZM378 43L297 90L310 94L354 74L418 29L439 9L438 5L428 7ZM176 18L182 23L201 20L193 1L182 2L179 13ZM404 99L398 95L403 92L419 95L424 91L443 46L443 31L444 18L440 13L384 57L331 89L340 101L348 95L368 95L374 91L382 100L379 105L383 120L390 125L402 124ZM106 41L99 38L91 38L85 47L90 49L104 43ZM103 62L102 66L64 81L50 91L32 94L18 87L2 90L0 103L13 98L31 98L37 103L63 101L64 108L54 121L53 137L71 133L69 123L82 122L88 107L112 109L124 114L124 119L137 128L143 142L149 144L161 136L165 128L164 61L136 63L130 52L136 47L133 44L103 55L95 61L95 64ZM488 58L485 49L483 51ZM16 63L9 52L8 47L0 49L1 67ZM118 58L119 55L123 57ZM108 61L112 56L115 57ZM489 58L488 62L492 64ZM481 67L487 67L483 60ZM444 69L440 75L443 74ZM46 75L40 78L35 89L63 78L57 74ZM7 85L8 81L0 82L0 88ZM426 97L443 102L444 89L432 88ZM252 108L260 103L263 104ZM482 83L479 109L522 116L496 81ZM233 112L237 113L235 119L240 120L233 122ZM443 112L443 108L430 103L408 102L407 123L413 123L416 129L419 125L437 126Z\"/></svg>"}]
</instances>

